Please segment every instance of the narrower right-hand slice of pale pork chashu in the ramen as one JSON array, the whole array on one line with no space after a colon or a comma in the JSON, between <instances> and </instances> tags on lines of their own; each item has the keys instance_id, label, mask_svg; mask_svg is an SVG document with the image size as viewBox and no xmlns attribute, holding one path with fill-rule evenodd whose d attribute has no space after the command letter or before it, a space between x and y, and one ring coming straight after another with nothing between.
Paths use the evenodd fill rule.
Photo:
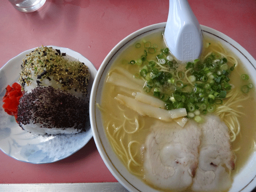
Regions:
<instances>
[{"instance_id":1,"label":"narrower right-hand slice of pale pork chashu in the ramen","mask_svg":"<svg viewBox=\"0 0 256 192\"><path fill-rule=\"evenodd\" d=\"M193 179L195 191L224 191L231 187L234 169L228 127L218 117L208 116L202 124L198 168Z\"/></svg>"}]
</instances>

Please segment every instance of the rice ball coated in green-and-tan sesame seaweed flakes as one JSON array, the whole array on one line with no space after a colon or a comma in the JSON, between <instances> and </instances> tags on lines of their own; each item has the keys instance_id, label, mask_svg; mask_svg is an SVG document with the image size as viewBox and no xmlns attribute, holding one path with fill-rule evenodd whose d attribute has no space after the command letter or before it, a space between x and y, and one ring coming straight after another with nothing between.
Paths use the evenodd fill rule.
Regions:
<instances>
[{"instance_id":1,"label":"rice ball coated in green-and-tan sesame seaweed flakes","mask_svg":"<svg viewBox=\"0 0 256 192\"><path fill-rule=\"evenodd\" d=\"M88 67L52 47L38 47L23 60L19 82L25 92L36 86L52 86L77 96L87 93Z\"/></svg>"}]
</instances>

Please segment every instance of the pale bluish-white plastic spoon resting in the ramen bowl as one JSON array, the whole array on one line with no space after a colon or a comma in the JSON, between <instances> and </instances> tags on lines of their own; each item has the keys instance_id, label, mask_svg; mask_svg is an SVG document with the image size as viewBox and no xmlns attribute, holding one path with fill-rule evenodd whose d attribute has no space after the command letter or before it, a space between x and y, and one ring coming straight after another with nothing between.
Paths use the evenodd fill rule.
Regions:
<instances>
[{"instance_id":1,"label":"pale bluish-white plastic spoon resting in the ramen bowl","mask_svg":"<svg viewBox=\"0 0 256 192\"><path fill-rule=\"evenodd\" d=\"M187 62L200 56L202 31L187 0L170 0L164 38L178 60Z\"/></svg>"}]
</instances>

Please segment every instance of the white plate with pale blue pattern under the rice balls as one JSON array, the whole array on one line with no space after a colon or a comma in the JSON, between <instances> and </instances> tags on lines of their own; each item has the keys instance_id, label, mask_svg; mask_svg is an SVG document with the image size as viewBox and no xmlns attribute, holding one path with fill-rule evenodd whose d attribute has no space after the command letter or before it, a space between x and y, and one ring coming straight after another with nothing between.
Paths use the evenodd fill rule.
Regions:
<instances>
[{"instance_id":1,"label":"white plate with pale blue pattern under the rice balls","mask_svg":"<svg viewBox=\"0 0 256 192\"><path fill-rule=\"evenodd\" d=\"M60 52L66 53L88 66L90 81L87 97L90 98L92 84L97 73L93 64L78 52L68 48L50 47L59 49ZM6 92L5 88L8 84L12 85L14 82L18 82L22 59L34 49L20 53L0 69L0 149L8 156L22 162L44 164L62 160L80 150L92 138L92 129L88 120L86 132L40 136L23 131L16 123L14 116L4 112L2 98Z\"/></svg>"}]
</instances>

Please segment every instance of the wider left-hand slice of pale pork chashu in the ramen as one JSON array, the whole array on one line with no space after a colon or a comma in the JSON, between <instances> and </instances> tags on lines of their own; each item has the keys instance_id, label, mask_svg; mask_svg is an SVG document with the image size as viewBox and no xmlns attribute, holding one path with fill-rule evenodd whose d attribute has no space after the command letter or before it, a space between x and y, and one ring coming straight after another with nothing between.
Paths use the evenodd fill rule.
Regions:
<instances>
[{"instance_id":1,"label":"wider left-hand slice of pale pork chashu in the ramen","mask_svg":"<svg viewBox=\"0 0 256 192\"><path fill-rule=\"evenodd\" d=\"M164 189L186 189L198 163L200 129L192 121L184 128L159 121L151 129L145 145L144 179Z\"/></svg>"}]
</instances>

